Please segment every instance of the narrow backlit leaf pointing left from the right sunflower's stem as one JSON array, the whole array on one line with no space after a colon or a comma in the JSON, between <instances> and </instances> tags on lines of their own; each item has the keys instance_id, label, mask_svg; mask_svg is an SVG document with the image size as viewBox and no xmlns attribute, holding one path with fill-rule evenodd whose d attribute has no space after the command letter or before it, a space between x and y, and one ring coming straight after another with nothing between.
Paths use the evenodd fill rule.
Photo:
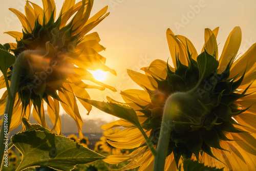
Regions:
<instances>
[{"instance_id":1,"label":"narrow backlit leaf pointing left from the right sunflower's stem","mask_svg":"<svg viewBox=\"0 0 256 171\"><path fill-rule=\"evenodd\" d=\"M79 98L79 99L89 104L92 104L93 106L95 106L96 108L98 108L99 110L105 113L108 113L120 119L126 120L137 127L141 127L136 112L130 106L119 104L119 103L113 103L113 102L95 101L95 100L83 99L83 98Z\"/></svg>"}]
</instances>

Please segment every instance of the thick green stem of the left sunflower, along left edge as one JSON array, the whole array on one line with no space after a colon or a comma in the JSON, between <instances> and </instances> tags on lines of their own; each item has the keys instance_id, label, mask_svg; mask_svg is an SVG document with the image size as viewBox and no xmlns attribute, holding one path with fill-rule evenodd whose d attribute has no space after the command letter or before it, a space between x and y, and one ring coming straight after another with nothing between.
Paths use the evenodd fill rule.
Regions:
<instances>
[{"instance_id":1,"label":"thick green stem of the left sunflower, along left edge","mask_svg":"<svg viewBox=\"0 0 256 171\"><path fill-rule=\"evenodd\" d=\"M5 114L3 118L3 123L0 132L0 161L1 167L3 165L3 159L5 153L8 151L8 147L6 147L6 142L8 143L8 133L11 124L13 106L15 102L15 96L18 89L18 82L20 79L21 70L23 67L24 55L23 53L19 54L13 68L13 74L11 78L10 91L8 91L8 98L6 101ZM8 80L7 80L8 81ZM8 85L8 84L7 84ZM7 88L8 90L8 88Z\"/></svg>"}]
</instances>

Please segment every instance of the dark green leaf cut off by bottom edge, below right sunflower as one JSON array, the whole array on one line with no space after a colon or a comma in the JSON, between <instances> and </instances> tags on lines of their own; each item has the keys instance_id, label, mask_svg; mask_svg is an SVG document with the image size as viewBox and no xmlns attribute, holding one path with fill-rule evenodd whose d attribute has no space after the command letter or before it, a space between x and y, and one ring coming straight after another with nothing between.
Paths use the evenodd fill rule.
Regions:
<instances>
[{"instance_id":1,"label":"dark green leaf cut off by bottom edge, below right sunflower","mask_svg":"<svg viewBox=\"0 0 256 171\"><path fill-rule=\"evenodd\" d=\"M186 159L183 161L183 168L184 171L203 171L203 170L208 170L208 171L223 171L224 168L216 168L216 167L208 167L204 166L203 163L199 163L198 161L193 161Z\"/></svg>"}]
</instances>

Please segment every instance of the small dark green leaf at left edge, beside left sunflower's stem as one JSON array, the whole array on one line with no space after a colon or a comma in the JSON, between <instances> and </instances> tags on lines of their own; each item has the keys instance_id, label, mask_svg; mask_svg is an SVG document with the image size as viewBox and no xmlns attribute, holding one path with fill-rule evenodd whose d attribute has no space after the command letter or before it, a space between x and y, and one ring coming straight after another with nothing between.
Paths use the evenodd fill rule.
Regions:
<instances>
[{"instance_id":1,"label":"small dark green leaf at left edge, beside left sunflower's stem","mask_svg":"<svg viewBox=\"0 0 256 171\"><path fill-rule=\"evenodd\" d=\"M0 49L0 70L7 76L7 70L15 63L16 57L4 49Z\"/></svg>"}]
</instances>

